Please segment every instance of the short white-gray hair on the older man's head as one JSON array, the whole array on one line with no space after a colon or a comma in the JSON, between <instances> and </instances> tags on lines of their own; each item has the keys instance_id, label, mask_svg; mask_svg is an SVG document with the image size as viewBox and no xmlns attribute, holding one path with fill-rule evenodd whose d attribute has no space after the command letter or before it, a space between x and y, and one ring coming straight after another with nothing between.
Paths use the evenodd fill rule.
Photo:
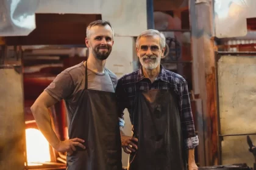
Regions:
<instances>
[{"instance_id":1,"label":"short white-gray hair on the older man's head","mask_svg":"<svg viewBox=\"0 0 256 170\"><path fill-rule=\"evenodd\" d=\"M165 47L165 35L163 35L163 33L158 32L158 30L153 30L153 29L149 29L146 30L144 32L142 32L138 37L137 37L137 41L136 41L136 47L140 47L140 38L141 37L147 37L147 36L159 36L160 38L160 47L161 49L163 49L163 47Z\"/></svg>"}]
</instances>

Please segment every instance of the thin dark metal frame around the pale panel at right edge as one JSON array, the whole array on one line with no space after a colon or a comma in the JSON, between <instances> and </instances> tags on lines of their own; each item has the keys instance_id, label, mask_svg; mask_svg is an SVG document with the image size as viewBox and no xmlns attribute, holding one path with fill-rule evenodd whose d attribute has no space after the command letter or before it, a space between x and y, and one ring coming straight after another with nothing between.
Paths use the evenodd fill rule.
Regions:
<instances>
[{"instance_id":1,"label":"thin dark metal frame around the pale panel at right edge","mask_svg":"<svg viewBox=\"0 0 256 170\"><path fill-rule=\"evenodd\" d=\"M232 136L240 136L240 135L256 135L255 133L251 134L228 134L228 135L222 135L221 134L221 123L220 123L220 116L219 116L219 80L218 80L218 61L223 55L236 55L243 57L244 55L256 55L256 52L215 52L215 79L216 79L216 106L217 106L217 121L218 121L218 127L217 127L217 134L218 134L218 165L222 165L222 150L221 150L221 141L223 140L223 137L232 137Z\"/></svg>"}]
</instances>

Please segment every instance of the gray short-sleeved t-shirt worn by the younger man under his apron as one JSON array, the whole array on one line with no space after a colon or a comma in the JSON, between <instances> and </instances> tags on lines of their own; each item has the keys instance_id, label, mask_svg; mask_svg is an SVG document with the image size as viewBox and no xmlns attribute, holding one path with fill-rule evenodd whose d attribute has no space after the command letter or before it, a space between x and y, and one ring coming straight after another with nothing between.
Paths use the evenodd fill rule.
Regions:
<instances>
[{"instance_id":1,"label":"gray short-sleeved t-shirt worn by the younger man under his apron","mask_svg":"<svg viewBox=\"0 0 256 170\"><path fill-rule=\"evenodd\" d=\"M85 89L85 66L83 63L69 67L61 72L45 89L49 95L57 100L65 100L69 118L74 114L76 108L79 107L77 104L82 91ZM115 92L114 87L116 87L118 81L115 73L108 69L105 69L104 73L95 73L88 69L87 75L88 89Z\"/></svg>"}]
</instances>

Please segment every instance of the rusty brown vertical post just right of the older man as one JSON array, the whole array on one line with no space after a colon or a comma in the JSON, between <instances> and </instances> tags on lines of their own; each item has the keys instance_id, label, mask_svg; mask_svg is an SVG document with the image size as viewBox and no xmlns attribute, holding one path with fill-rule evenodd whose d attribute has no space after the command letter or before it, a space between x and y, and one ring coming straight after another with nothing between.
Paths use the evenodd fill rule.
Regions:
<instances>
[{"instance_id":1,"label":"rusty brown vertical post just right of the older man","mask_svg":"<svg viewBox=\"0 0 256 170\"><path fill-rule=\"evenodd\" d=\"M202 99L202 115L197 116L202 116L202 121L199 123L202 123L204 127L202 131L198 132L201 135L198 147L201 151L204 150L204 153L199 155L201 166L218 164L218 120L216 112L215 47L212 38L212 5L213 2L210 0L198 4L190 0L193 90L195 95L199 95L199 98Z\"/></svg>"}]
</instances>

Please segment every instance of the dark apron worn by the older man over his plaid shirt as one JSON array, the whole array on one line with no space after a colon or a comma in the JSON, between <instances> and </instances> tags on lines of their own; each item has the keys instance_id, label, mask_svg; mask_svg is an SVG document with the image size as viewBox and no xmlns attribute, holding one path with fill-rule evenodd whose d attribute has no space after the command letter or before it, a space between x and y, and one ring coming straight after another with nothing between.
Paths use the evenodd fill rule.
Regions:
<instances>
[{"instance_id":1,"label":"dark apron worn by the older man over his plaid shirt","mask_svg":"<svg viewBox=\"0 0 256 170\"><path fill-rule=\"evenodd\" d=\"M133 137L138 138L138 150L130 154L129 170L187 169L174 92L137 90L132 117Z\"/></svg>"}]
</instances>

